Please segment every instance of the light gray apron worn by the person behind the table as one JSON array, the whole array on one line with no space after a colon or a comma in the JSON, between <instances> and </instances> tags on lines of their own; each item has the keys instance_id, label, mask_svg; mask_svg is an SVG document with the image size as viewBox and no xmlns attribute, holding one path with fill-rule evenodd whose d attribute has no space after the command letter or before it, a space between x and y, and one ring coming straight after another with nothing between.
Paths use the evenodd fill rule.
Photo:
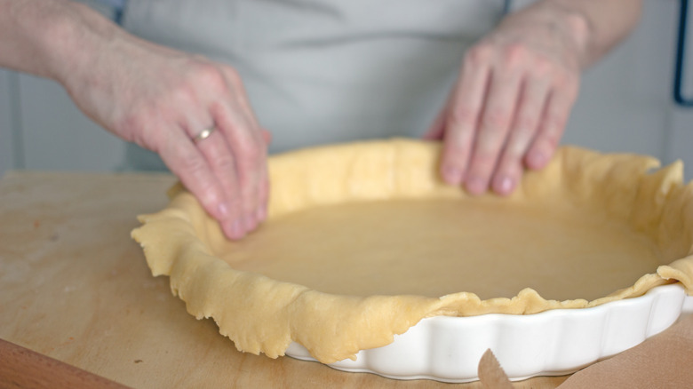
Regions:
<instances>
[{"instance_id":1,"label":"light gray apron worn by the person behind the table","mask_svg":"<svg viewBox=\"0 0 693 389\"><path fill-rule=\"evenodd\" d=\"M227 63L273 134L270 153L355 139L418 137L466 49L504 0L130 0L123 27ZM130 147L127 167L162 169Z\"/></svg>"}]
</instances>

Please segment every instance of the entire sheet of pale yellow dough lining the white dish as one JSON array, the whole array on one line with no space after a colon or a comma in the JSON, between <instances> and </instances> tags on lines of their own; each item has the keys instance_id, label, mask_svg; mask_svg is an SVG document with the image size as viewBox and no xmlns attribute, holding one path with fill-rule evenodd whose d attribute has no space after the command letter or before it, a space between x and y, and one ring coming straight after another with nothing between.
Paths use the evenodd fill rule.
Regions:
<instances>
[{"instance_id":1,"label":"entire sheet of pale yellow dough lining the white dish","mask_svg":"<svg viewBox=\"0 0 693 389\"><path fill-rule=\"evenodd\" d=\"M435 315L583 308L669 282L693 291L681 163L649 173L650 157L563 147L512 196L470 197L442 184L439 154L394 139L277 155L269 219L243 241L180 188L132 236L190 314L273 358L296 341L339 361Z\"/></svg>"}]
</instances>

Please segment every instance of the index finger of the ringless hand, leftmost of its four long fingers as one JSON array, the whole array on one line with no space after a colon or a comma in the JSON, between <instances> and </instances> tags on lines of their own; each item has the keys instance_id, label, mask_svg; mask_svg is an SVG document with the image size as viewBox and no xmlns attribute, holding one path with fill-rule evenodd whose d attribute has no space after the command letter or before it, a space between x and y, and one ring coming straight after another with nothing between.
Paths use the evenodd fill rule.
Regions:
<instances>
[{"instance_id":1,"label":"index finger of the ringless hand, leftmost of its four long fingers","mask_svg":"<svg viewBox=\"0 0 693 389\"><path fill-rule=\"evenodd\" d=\"M481 62L466 60L445 118L441 172L450 185L460 185L465 178L490 75L490 67Z\"/></svg>"}]
</instances>

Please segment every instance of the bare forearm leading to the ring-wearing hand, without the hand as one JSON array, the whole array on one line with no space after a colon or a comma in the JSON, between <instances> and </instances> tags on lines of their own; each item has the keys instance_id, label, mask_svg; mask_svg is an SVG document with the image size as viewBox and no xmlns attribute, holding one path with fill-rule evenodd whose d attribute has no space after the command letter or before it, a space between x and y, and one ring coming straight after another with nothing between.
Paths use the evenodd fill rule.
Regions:
<instances>
[{"instance_id":1,"label":"bare forearm leading to the ring-wearing hand, without the hand","mask_svg":"<svg viewBox=\"0 0 693 389\"><path fill-rule=\"evenodd\" d=\"M0 0L0 66L66 83L125 34L67 0Z\"/></svg>"}]
</instances>

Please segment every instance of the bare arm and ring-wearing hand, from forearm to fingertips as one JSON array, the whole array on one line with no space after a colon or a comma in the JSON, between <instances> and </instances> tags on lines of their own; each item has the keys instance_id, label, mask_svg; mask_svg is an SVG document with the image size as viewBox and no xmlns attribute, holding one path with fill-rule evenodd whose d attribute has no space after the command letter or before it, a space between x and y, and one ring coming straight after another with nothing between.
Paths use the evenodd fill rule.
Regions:
<instances>
[{"instance_id":1,"label":"bare arm and ring-wearing hand, from forearm to fingertips","mask_svg":"<svg viewBox=\"0 0 693 389\"><path fill-rule=\"evenodd\" d=\"M266 218L267 137L233 68L143 41L67 0L0 0L0 66L52 78L85 115L161 155L227 236Z\"/></svg>"}]
</instances>

